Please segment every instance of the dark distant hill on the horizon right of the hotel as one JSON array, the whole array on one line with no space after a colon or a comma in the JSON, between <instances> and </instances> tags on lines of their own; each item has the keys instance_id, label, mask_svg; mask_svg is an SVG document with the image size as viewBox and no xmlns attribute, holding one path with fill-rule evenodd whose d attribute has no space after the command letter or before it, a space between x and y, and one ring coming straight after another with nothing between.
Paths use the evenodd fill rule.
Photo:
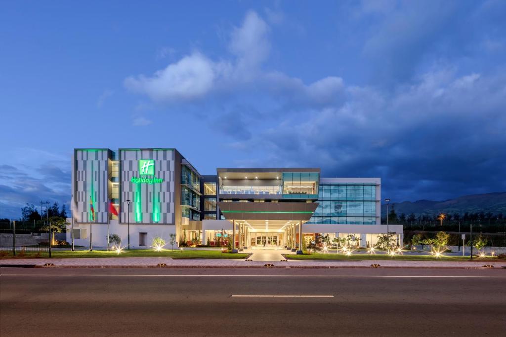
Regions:
<instances>
[{"instance_id":1,"label":"dark distant hill on the horizon right of the hotel","mask_svg":"<svg viewBox=\"0 0 506 337\"><path fill-rule=\"evenodd\" d=\"M418 200L415 202L404 201L402 203L391 203L397 215L414 213L419 215L435 215L438 213L479 213L492 212L502 213L506 216L506 192L495 192L486 194L475 194L463 196L445 201ZM382 205L382 214L386 214L387 205Z\"/></svg>"}]
</instances>

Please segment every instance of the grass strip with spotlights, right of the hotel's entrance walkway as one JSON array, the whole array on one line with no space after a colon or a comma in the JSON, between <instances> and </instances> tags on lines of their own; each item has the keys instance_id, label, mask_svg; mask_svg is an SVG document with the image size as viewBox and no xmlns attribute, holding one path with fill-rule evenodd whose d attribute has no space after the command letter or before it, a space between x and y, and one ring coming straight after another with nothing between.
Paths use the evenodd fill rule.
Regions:
<instances>
[{"instance_id":1,"label":"grass strip with spotlights, right of the hotel's entrance walkway","mask_svg":"<svg viewBox=\"0 0 506 337\"><path fill-rule=\"evenodd\" d=\"M390 256L386 254L355 254L351 256L347 256L345 254L322 254L315 253L313 254L305 254L305 255L293 255L286 254L285 255L288 260L405 260L405 261L471 261L469 256L441 256L436 258L432 255L395 255ZM477 258L474 257L473 261L497 261L497 262L506 262L506 260L498 260L496 257L484 257Z\"/></svg>"}]
</instances>

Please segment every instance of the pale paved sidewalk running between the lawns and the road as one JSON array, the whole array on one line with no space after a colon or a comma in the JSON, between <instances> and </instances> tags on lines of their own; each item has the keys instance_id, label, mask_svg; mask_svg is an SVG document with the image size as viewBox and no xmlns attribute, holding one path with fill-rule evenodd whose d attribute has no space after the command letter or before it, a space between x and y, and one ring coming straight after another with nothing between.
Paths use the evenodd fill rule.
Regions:
<instances>
[{"instance_id":1,"label":"pale paved sidewalk running between the lawns and the road","mask_svg":"<svg viewBox=\"0 0 506 337\"><path fill-rule=\"evenodd\" d=\"M251 268L264 267L266 263L273 264L278 268L370 268L371 264L378 264L387 268L483 268L485 264L492 264L495 268L506 267L506 262L483 262L483 261L386 261L386 260L362 260L362 261L244 261L230 259L179 259L171 258L71 258L71 259L16 259L0 260L0 266L8 265L36 265L44 266L53 263L61 268L155 268L159 263L172 268Z\"/></svg>"}]
</instances>

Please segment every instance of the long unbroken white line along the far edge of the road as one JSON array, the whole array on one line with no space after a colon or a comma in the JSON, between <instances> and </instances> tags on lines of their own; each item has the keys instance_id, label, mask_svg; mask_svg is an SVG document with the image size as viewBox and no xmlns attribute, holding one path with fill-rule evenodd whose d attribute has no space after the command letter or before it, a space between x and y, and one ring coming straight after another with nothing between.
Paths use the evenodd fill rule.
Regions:
<instances>
[{"instance_id":1,"label":"long unbroken white line along the far edge of the road","mask_svg":"<svg viewBox=\"0 0 506 337\"><path fill-rule=\"evenodd\" d=\"M443 275L0 274L0 276L506 278L506 276L457 276L457 275L443 276Z\"/></svg>"}]
</instances>

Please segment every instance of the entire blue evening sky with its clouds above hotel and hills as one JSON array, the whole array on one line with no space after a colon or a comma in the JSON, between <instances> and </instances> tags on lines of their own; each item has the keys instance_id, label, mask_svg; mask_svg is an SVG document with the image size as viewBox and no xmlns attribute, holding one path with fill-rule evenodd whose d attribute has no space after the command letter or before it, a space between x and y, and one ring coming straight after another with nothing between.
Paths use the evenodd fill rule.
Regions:
<instances>
[{"instance_id":1,"label":"entire blue evening sky with its clouds above hotel and hills","mask_svg":"<svg viewBox=\"0 0 506 337\"><path fill-rule=\"evenodd\" d=\"M506 190L506 2L3 2L0 217L69 202L73 148Z\"/></svg>"}]
</instances>

